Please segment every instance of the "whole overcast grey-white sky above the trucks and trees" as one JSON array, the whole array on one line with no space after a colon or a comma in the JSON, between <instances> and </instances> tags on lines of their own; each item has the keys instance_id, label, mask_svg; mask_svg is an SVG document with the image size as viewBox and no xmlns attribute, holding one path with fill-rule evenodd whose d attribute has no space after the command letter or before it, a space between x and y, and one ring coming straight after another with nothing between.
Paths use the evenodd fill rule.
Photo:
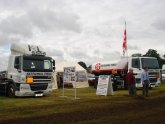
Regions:
<instances>
[{"instance_id":1,"label":"whole overcast grey-white sky above the trucks and trees","mask_svg":"<svg viewBox=\"0 0 165 124\"><path fill-rule=\"evenodd\" d=\"M111 61L128 54L165 54L165 0L0 0L0 70L12 42L41 45L57 62Z\"/></svg>"}]
</instances>

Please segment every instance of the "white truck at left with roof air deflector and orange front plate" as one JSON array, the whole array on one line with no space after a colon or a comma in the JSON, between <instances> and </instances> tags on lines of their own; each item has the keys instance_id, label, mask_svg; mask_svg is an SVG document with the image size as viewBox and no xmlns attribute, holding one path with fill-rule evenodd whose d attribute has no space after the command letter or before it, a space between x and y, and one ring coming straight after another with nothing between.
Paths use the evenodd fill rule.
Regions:
<instances>
[{"instance_id":1,"label":"white truck at left with roof air deflector and orange front plate","mask_svg":"<svg viewBox=\"0 0 165 124\"><path fill-rule=\"evenodd\" d=\"M40 46L13 43L7 70L0 72L0 93L9 97L50 94L54 71L55 61Z\"/></svg>"}]
</instances>

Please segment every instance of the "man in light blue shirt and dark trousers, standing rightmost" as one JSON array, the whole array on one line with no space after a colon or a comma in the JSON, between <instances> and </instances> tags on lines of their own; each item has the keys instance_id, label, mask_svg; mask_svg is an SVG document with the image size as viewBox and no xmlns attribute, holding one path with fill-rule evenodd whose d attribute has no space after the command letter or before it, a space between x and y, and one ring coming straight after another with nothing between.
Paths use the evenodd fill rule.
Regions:
<instances>
[{"instance_id":1,"label":"man in light blue shirt and dark trousers, standing rightmost","mask_svg":"<svg viewBox=\"0 0 165 124\"><path fill-rule=\"evenodd\" d=\"M144 71L141 73L141 82L143 84L143 96L148 97L148 90L149 90L149 76L148 76L148 68L144 67Z\"/></svg>"}]
</instances>

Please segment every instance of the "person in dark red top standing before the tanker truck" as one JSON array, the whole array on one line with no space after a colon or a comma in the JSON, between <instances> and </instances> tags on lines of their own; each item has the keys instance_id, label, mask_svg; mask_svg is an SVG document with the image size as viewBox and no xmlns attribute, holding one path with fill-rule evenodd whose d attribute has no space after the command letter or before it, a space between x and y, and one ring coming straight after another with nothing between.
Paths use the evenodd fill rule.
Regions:
<instances>
[{"instance_id":1,"label":"person in dark red top standing before the tanker truck","mask_svg":"<svg viewBox=\"0 0 165 124\"><path fill-rule=\"evenodd\" d=\"M130 68L129 72L127 74L127 83L128 83L128 90L129 90L129 95L130 96L135 96L136 95L136 87L135 87L135 76L133 74L133 69Z\"/></svg>"}]
</instances>

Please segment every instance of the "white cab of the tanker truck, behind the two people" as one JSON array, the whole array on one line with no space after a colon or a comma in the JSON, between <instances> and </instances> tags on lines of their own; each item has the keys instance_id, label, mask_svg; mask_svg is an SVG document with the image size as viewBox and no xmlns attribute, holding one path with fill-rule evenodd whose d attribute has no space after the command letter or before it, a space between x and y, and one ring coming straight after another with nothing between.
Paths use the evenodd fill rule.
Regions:
<instances>
[{"instance_id":1,"label":"white cab of the tanker truck, behind the two people","mask_svg":"<svg viewBox=\"0 0 165 124\"><path fill-rule=\"evenodd\" d=\"M142 87L141 73L144 67L148 67L150 87L160 84L160 69L154 57L130 57L128 68L132 68L136 78L136 87Z\"/></svg>"}]
</instances>

